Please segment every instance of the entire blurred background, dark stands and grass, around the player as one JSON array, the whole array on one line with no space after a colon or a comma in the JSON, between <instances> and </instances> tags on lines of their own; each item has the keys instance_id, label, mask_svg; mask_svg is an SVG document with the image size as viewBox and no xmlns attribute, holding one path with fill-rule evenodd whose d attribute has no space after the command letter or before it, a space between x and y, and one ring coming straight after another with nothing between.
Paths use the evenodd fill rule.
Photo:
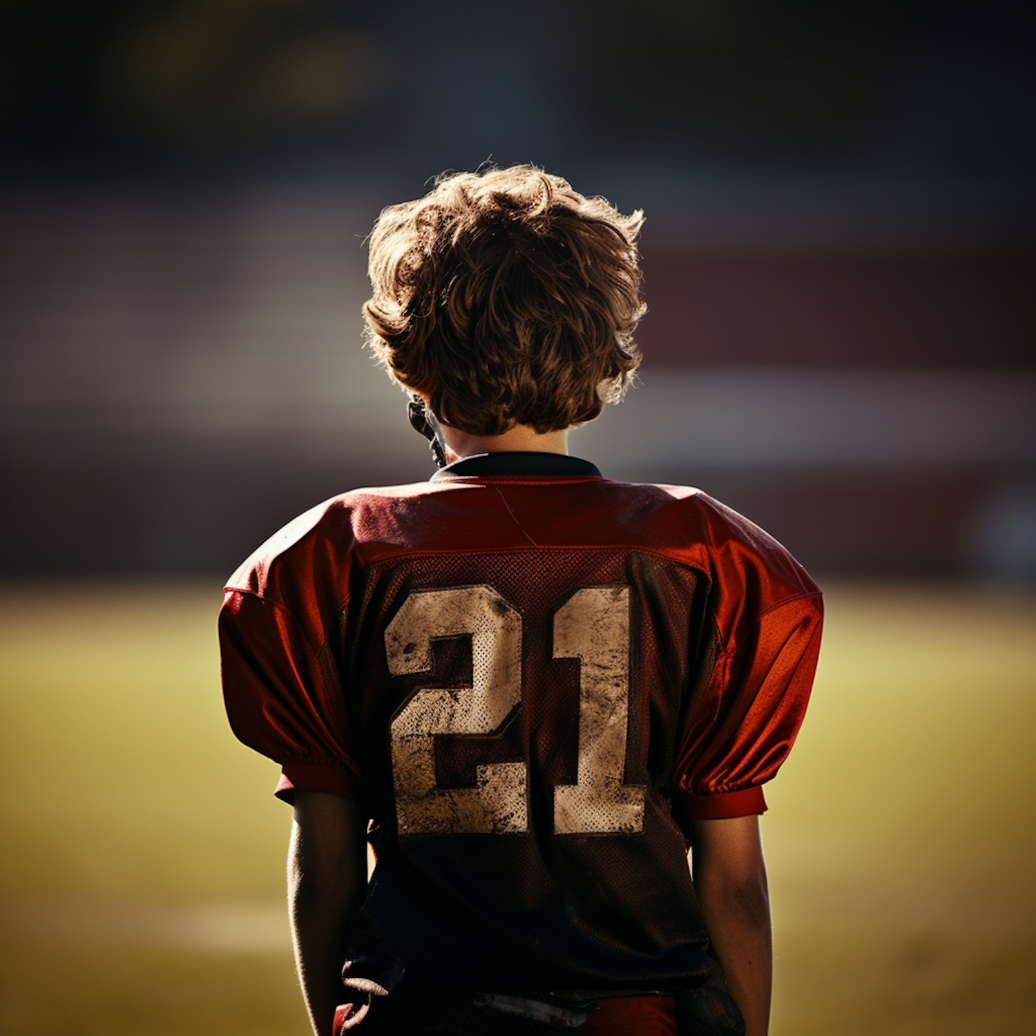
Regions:
<instances>
[{"instance_id":1,"label":"entire blurred background, dark stands and grass, around the player","mask_svg":"<svg viewBox=\"0 0 1036 1036\"><path fill-rule=\"evenodd\" d=\"M831 587L775 1036L1036 1031L1036 70L1003 0L0 4L0 1032L303 1033L220 578L427 451L363 238L447 168L643 207L576 433Z\"/></svg>"}]
</instances>

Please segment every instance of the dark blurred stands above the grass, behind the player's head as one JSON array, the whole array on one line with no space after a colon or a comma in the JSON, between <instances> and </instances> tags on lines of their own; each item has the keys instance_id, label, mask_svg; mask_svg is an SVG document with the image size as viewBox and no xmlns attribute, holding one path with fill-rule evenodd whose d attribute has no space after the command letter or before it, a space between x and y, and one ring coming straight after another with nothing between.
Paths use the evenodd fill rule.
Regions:
<instances>
[{"instance_id":1,"label":"dark blurred stands above the grass, behind the player's head","mask_svg":"<svg viewBox=\"0 0 1036 1036\"><path fill-rule=\"evenodd\" d=\"M1033 578L1026 6L6 0L0 573L225 572L424 477L361 242L492 156L648 212L643 383L575 452L822 574Z\"/></svg>"}]
</instances>

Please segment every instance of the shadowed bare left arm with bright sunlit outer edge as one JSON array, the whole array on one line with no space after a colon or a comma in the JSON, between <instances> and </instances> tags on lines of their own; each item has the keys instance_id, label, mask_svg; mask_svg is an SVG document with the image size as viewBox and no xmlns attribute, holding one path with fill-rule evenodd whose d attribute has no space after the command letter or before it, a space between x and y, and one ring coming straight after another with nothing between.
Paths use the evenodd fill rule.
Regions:
<instances>
[{"instance_id":1,"label":"shadowed bare left arm with bright sunlit outer edge","mask_svg":"<svg viewBox=\"0 0 1036 1036\"><path fill-rule=\"evenodd\" d=\"M296 792L288 851L295 966L316 1036L330 1036L345 999L346 925L367 888L367 818L351 799Z\"/></svg>"}]
</instances>

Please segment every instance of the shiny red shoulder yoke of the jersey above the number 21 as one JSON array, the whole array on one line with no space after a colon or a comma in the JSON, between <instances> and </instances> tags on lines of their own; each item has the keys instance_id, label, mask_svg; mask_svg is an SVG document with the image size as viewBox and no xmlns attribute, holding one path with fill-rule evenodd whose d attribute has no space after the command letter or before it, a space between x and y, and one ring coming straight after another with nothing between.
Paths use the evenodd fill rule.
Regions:
<instances>
[{"instance_id":1,"label":"shiny red shoulder yoke of the jersey above the number 21","mask_svg":"<svg viewBox=\"0 0 1036 1036\"><path fill-rule=\"evenodd\" d=\"M544 506L549 494L553 506ZM818 594L772 536L691 486L592 479L463 480L365 487L334 496L275 533L234 572L228 593L303 614L345 603L357 555L409 550L621 546L689 565L714 594L756 613Z\"/></svg>"}]
</instances>

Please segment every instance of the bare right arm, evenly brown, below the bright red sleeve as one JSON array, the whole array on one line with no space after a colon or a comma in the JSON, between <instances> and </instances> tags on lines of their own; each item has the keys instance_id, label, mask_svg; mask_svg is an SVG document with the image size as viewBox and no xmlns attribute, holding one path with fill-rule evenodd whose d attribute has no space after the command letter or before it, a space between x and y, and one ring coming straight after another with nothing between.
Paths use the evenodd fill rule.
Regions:
<instances>
[{"instance_id":1,"label":"bare right arm, evenly brown, below the bright red sleeve","mask_svg":"<svg viewBox=\"0 0 1036 1036\"><path fill-rule=\"evenodd\" d=\"M694 821L691 835L694 885L727 989L744 1015L745 1036L766 1036L773 946L758 817Z\"/></svg>"}]
</instances>

